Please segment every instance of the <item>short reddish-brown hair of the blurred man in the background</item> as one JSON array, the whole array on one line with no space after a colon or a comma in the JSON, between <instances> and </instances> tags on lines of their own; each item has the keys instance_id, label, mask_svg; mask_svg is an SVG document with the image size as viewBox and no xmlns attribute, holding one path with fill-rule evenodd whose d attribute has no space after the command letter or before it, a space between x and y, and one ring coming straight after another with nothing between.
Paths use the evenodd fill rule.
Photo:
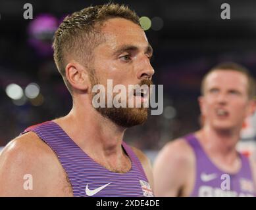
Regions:
<instances>
[{"instance_id":1,"label":"short reddish-brown hair of the blurred man in the background","mask_svg":"<svg viewBox=\"0 0 256 210\"><path fill-rule=\"evenodd\" d=\"M243 75L245 75L247 77L247 81L248 81L248 96L250 99L255 98L256 95L256 83L255 83L255 79L254 77L250 74L249 70L247 70L247 68L245 68L244 66L234 63L234 62L223 62L218 64L217 66L214 66L213 68L211 68L211 70L209 70L209 72L207 74L204 75L203 80L201 82L201 94L204 95L205 93L205 81L208 77L209 74L215 72L215 71L234 71L234 72L240 72Z\"/></svg>"}]
</instances>

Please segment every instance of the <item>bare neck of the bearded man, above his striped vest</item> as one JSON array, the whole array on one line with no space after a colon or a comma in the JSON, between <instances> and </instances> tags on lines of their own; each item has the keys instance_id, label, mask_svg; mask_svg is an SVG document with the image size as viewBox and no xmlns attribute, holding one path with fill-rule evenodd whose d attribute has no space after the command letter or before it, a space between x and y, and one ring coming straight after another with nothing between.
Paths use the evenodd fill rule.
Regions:
<instances>
[{"instance_id":1,"label":"bare neck of the bearded man, above his striped vest","mask_svg":"<svg viewBox=\"0 0 256 210\"><path fill-rule=\"evenodd\" d=\"M90 104L74 104L67 116L56 119L55 122L91 156L103 158L122 154L121 144L125 129L103 117Z\"/></svg>"}]
</instances>

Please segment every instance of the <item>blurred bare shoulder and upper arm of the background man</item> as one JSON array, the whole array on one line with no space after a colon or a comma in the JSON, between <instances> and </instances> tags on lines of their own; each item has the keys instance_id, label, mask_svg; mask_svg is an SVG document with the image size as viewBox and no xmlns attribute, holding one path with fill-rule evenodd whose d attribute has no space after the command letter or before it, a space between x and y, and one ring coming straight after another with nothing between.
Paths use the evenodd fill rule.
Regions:
<instances>
[{"instance_id":1,"label":"blurred bare shoulder and upper arm of the background man","mask_svg":"<svg viewBox=\"0 0 256 210\"><path fill-rule=\"evenodd\" d=\"M189 196L184 192L193 163L192 148L184 139L166 144L159 152L154 167L155 195L174 197Z\"/></svg>"}]
</instances>

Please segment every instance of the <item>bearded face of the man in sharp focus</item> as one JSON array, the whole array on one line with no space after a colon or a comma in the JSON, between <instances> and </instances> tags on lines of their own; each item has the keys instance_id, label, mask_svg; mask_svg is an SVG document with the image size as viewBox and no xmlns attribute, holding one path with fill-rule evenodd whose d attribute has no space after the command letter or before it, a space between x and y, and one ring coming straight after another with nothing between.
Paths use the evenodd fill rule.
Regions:
<instances>
[{"instance_id":1,"label":"bearded face of the man in sharp focus","mask_svg":"<svg viewBox=\"0 0 256 210\"><path fill-rule=\"evenodd\" d=\"M93 53L94 80L104 85L106 91L107 79L112 79L113 87L124 85L128 105L129 98L133 97L136 101L135 98L138 97L134 96L133 89L129 91L128 85L151 84L154 74L149 60L152 56L151 46L140 26L123 18L107 20L101 28L101 33L105 41L97 46ZM143 104L145 100L149 100L149 95L141 96L140 100ZM148 108L113 107L97 110L123 127L143 123L148 112Z\"/></svg>"}]
</instances>

